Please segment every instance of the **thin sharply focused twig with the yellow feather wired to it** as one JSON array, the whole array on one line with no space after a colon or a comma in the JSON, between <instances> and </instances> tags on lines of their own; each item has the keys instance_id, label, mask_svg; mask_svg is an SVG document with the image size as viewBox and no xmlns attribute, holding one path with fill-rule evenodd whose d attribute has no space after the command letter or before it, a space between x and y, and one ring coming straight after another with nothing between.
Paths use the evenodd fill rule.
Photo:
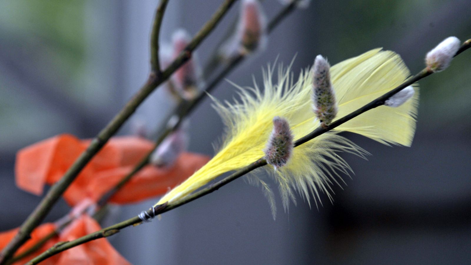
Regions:
<instances>
[{"instance_id":1,"label":"thin sharply focused twig with the yellow feather wired to it","mask_svg":"<svg viewBox=\"0 0 471 265\"><path fill-rule=\"evenodd\" d=\"M471 40L465 41L464 44L461 46L460 50L455 54L455 56L460 54L464 50L469 49L470 47L471 47ZM382 95L381 97L379 97L377 99L374 99L370 103L366 104L365 106L363 106L361 108L358 108L356 111L348 114L347 116L344 116L344 117L336 120L331 125L326 126L325 128L322 128L322 126L318 127L317 129L310 132L306 136L304 136L304 137L300 138L299 140L295 141L294 146L297 147L297 146L299 146L303 143L306 143L307 141L310 141L310 140L314 139L315 137L334 129L334 128L336 128L337 126L339 126L341 124L344 124L345 122L351 120L352 118L354 118L354 117L356 117L356 116L358 116L358 115L360 115L360 114L362 114L362 113L364 113L368 110L371 110L373 108L376 108L376 107L379 107L379 106L383 105L384 101L386 99L389 99L391 96L395 95L397 92L401 91L403 88L405 88L409 85L412 85L413 83L415 83L415 82L421 80L422 78L425 78L425 77L427 77L431 74L433 74L433 72L428 71L427 68L424 68L417 75L414 75L413 77L407 79L404 83L400 84L395 89L385 93L384 95ZM206 187L202 190L199 190L199 191L197 191L193 194L190 194L190 195L188 195L187 197L185 197L183 199L179 199L179 200L177 200L175 202L172 202L172 203L164 203L162 205L157 205L154 208L150 208L149 210L147 210L147 214L150 215L150 216L155 216L155 215L160 215L162 213L168 212L171 209L174 209L174 208L177 208L177 207L182 206L184 204L187 204L188 202L191 202L195 199L203 197L206 194L209 194L209 193L211 193L215 190L218 190L220 187L226 185L227 183L232 182L235 179L243 176L244 174L247 174L247 173L251 172L252 170L257 169L261 166L265 166L265 165L267 165L267 161L263 157L261 157L257 161L253 162L252 164L250 164L248 166L245 166L242 169L237 170L235 173L233 173L233 174L229 175L228 177L220 180L219 182L215 182L214 184L211 184L211 185L209 185L208 187ZM135 216L135 217L130 218L130 219L128 219L126 221L123 221L121 223L114 224L112 226L106 227L106 228L104 228L102 230L99 230L97 232L85 235L85 236L83 236L79 239L76 239L76 240L73 240L73 241L70 241L70 242L65 242L65 243L60 244L56 247L49 248L47 251L43 252L41 255L33 258L28 264L31 264L31 265L32 264L37 264L37 263L43 261L44 259L46 259L48 257L51 257L53 255L56 255L57 253L60 253L64 250L67 250L69 248L73 248L75 246L84 244L84 243L89 242L91 240L96 240L96 239L99 239L99 238L108 237L110 235L113 235L113 234L119 232L123 228L126 228L126 227L131 226L131 225L137 225L137 224L140 224L141 222L142 221L139 218L139 216Z\"/></svg>"}]
</instances>

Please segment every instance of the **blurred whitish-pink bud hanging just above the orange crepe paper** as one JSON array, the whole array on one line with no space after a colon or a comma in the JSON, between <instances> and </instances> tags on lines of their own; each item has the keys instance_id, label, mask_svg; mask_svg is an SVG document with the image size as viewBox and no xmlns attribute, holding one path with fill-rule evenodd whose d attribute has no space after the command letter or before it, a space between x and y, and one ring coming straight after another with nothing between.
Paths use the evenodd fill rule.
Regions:
<instances>
[{"instance_id":1,"label":"blurred whitish-pink bud hanging just above the orange crepe paper","mask_svg":"<svg viewBox=\"0 0 471 265\"><path fill-rule=\"evenodd\" d=\"M188 135L183 130L172 132L154 151L150 162L158 167L171 167L179 155L187 149Z\"/></svg>"}]
</instances>

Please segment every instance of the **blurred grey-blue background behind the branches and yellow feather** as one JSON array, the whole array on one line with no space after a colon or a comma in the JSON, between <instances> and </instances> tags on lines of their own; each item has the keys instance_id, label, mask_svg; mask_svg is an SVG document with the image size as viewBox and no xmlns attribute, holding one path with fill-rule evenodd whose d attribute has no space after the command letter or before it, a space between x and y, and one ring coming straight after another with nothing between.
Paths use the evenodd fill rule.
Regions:
<instances>
[{"instance_id":1,"label":"blurred grey-blue background behind the branches and yellow feather","mask_svg":"<svg viewBox=\"0 0 471 265\"><path fill-rule=\"evenodd\" d=\"M171 0L162 40L183 27L194 34L220 0ZM0 2L0 231L18 226L40 198L14 183L15 153L69 132L90 138L122 108L149 72L149 33L157 0L5 0ZM237 3L198 48L204 64L237 15ZM268 19L282 8L263 7ZM309 66L317 54L335 64L376 47L398 52L412 73L448 36L471 38L469 0L312 1L269 36L267 49L227 78L250 86L261 68ZM421 101L411 148L349 135L371 152L345 158L355 171L335 187L334 203L300 201L273 221L259 188L242 179L109 240L133 264L466 264L471 258L471 52L419 82ZM222 82L213 95L231 99ZM171 102L157 91L138 119L158 126ZM212 155L222 135L209 100L191 115L190 150ZM128 122L119 134L129 134ZM277 198L278 206L281 201ZM155 199L115 209L121 221ZM279 207L281 208L281 207ZM67 213L61 201L47 221Z\"/></svg>"}]
</instances>

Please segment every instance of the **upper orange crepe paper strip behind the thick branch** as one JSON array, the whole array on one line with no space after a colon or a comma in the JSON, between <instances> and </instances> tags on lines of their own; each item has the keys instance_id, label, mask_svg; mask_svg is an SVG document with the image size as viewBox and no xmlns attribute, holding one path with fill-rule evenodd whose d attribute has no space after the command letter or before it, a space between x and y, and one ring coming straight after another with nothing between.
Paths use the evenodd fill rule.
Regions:
<instances>
[{"instance_id":1,"label":"upper orange crepe paper strip behind the thick branch","mask_svg":"<svg viewBox=\"0 0 471 265\"><path fill-rule=\"evenodd\" d=\"M89 144L90 140L61 134L21 149L16 155L16 185L41 195L44 185L57 182ZM64 199L71 206L86 198L96 202L153 147L153 142L139 137L110 139L65 190ZM146 166L111 201L125 204L162 195L208 160L209 157L203 155L183 153L170 168Z\"/></svg>"}]
</instances>

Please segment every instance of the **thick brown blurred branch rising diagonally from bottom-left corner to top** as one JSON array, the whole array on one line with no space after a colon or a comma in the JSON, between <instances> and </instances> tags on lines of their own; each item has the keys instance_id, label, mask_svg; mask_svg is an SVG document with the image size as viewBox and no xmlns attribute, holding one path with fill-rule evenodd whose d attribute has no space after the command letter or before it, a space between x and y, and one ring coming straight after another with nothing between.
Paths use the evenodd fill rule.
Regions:
<instances>
[{"instance_id":1,"label":"thick brown blurred branch rising diagonally from bottom-left corner to top","mask_svg":"<svg viewBox=\"0 0 471 265\"><path fill-rule=\"evenodd\" d=\"M148 80L144 86L134 95L132 99L122 108L122 110L114 116L114 118L106 125L106 127L98 133L93 139L89 147L80 155L73 165L67 170L64 176L56 182L49 192L46 194L41 203L34 209L34 211L26 218L21 225L15 238L11 240L8 245L2 250L0 254L0 265L4 264L10 257L13 256L15 251L24 244L30 237L31 232L36 228L49 213L52 206L57 202L60 196L64 193L67 187L73 182L77 175L81 172L83 167L97 154L97 152L106 144L106 142L113 136L124 124L124 122L136 111L138 106L144 99L152 93L155 88L166 81L173 72L182 66L189 58L191 53L198 47L198 45L211 33L211 31L218 25L221 18L226 14L227 10L234 4L236 0L226 0L213 14L211 19L203 25L202 29L196 33L193 40L183 50L175 61L165 71L160 73L151 72ZM163 15L163 14L162 14ZM156 16L158 18L160 16ZM157 75L158 74L158 75Z\"/></svg>"}]
</instances>

